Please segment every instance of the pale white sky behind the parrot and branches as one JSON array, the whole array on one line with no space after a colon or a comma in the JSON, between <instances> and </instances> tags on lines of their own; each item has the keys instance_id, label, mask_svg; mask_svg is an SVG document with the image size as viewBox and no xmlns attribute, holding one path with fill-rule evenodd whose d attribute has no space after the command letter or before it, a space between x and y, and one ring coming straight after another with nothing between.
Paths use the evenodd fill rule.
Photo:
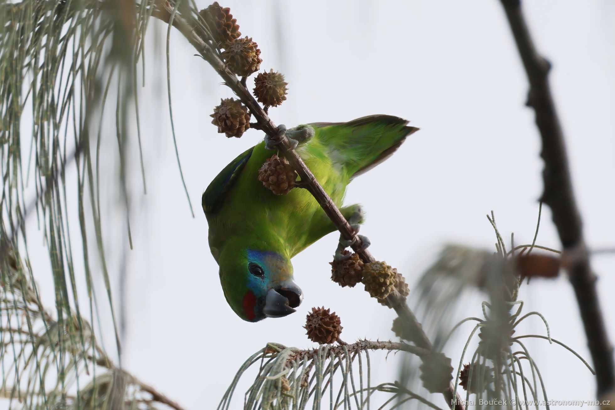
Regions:
<instances>
[{"instance_id":1,"label":"pale white sky behind the parrot and branches","mask_svg":"<svg viewBox=\"0 0 615 410\"><path fill-rule=\"evenodd\" d=\"M554 66L550 79L587 242L591 248L613 248L615 3L525 3L539 51ZM276 124L292 127L392 114L421 128L391 159L349 186L346 203L364 205L368 218L362 234L370 237L376 258L398 267L413 283L444 243L493 250L495 237L485 217L490 210L505 238L514 232L515 243L531 242L542 190L540 142L533 111L524 106L525 73L498 1L225 1L224 6L231 7L242 34L258 42L261 68L281 71L289 83L288 100L270 111ZM151 29L158 30L149 32L146 87L140 92L145 197L139 191L137 162L131 177L134 249L127 262L125 368L187 409L210 409L245 358L266 342L312 346L301 327L312 306L338 313L344 341L394 337L392 310L371 301L360 286L341 288L329 280L327 262L337 234L293 259L295 280L305 293L297 313L254 324L240 320L228 307L207 246L200 197L224 165L263 135L250 130L239 140L227 140L216 133L209 114L220 98L232 93L173 30L173 113L193 219L170 133L166 28L156 25ZM108 149L117 149L113 124L109 126ZM126 236L123 219L113 219L118 209L111 208L105 226L114 276L121 261L113 258L121 254ZM543 208L542 217L538 243L560 248L549 208ZM30 224L35 230L34 220ZM30 242L34 253L39 242ZM600 275L603 312L615 340L615 255L597 256L592 264ZM117 301L117 285L114 291ZM523 285L521 299L524 312L543 313L552 336L590 361L565 277ZM459 318L480 316L481 300L464 304ZM446 351L455 366L470 329L463 328ZM517 330L523 333L545 334L544 325L530 319ZM111 340L109 328L108 350ZM582 363L546 341L528 345L550 399L593 400L595 383ZM379 359L374 361L379 381L396 379L399 355L386 362ZM240 408L246 387L237 390L233 408ZM434 401L445 406L442 398L435 396Z\"/></svg>"}]
</instances>

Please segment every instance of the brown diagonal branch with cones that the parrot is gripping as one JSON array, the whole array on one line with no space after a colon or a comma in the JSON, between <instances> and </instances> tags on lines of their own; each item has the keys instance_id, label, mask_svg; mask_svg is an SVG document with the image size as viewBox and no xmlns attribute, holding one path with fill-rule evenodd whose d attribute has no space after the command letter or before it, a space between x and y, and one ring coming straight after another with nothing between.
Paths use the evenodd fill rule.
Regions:
<instances>
[{"instance_id":1,"label":"brown diagonal branch with cones that the parrot is gripping","mask_svg":"<svg viewBox=\"0 0 615 410\"><path fill-rule=\"evenodd\" d=\"M247 106L252 115L256 118L256 122L258 122L258 129L263 130L272 140L276 141L278 135L277 125L269 118L268 114L261 108L260 104L258 104L248 89L237 79L237 76L226 68L226 65L220 57L218 57L218 54L212 49L211 45L205 42L204 39L200 37L200 34L198 34L182 17L177 15L177 10L174 11L169 2L162 0L158 9L161 9L161 11L157 14L153 14L153 16L172 24L175 28L180 30L181 34L188 39L199 55L215 69L220 77L222 77L224 84L226 84L232 92L239 97L242 103ZM351 245L352 250L359 254L360 258L366 263L376 261L370 251L361 249L362 241L355 234L354 229L352 229L348 221L346 221L346 218L341 214L338 207L335 206L335 203L333 203L333 200L331 200L327 192L320 186L314 174L312 174L303 162L303 159L301 159L295 149L290 146L286 136L282 136L277 147L282 151L284 157L300 176L301 181L304 183L303 187L312 194L344 239L354 241ZM413 342L415 342L418 347L432 350L431 341L429 341L429 338L423 331L421 323L419 323L414 313L410 310L410 307L408 307L406 299L400 295L397 290L394 290L387 296L386 300L414 335ZM449 388L444 394L446 402L451 403L450 398L453 397L453 390ZM461 400L459 399L458 401ZM464 410L463 406L456 406L456 408Z\"/></svg>"}]
</instances>

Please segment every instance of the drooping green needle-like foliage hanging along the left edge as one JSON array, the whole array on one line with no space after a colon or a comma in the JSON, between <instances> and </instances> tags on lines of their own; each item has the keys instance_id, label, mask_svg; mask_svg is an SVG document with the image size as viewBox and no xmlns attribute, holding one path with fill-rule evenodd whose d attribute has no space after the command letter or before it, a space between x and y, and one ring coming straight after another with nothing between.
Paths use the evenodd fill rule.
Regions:
<instances>
[{"instance_id":1,"label":"drooping green needle-like foliage hanging along the left edge","mask_svg":"<svg viewBox=\"0 0 615 410\"><path fill-rule=\"evenodd\" d=\"M133 397L139 408L151 407L139 398L137 381L111 364L90 323L98 327L103 307L116 323L103 245L101 145L116 140L111 194L128 208L127 127L136 123L140 151L137 83L145 83L145 32L154 12L149 0L0 4L0 392L12 406L118 408L114 401L130 406ZM103 127L105 112L114 113L115 129ZM49 256L41 272L34 272L33 239L26 236L26 221L35 219L34 240ZM49 272L53 311L43 308L34 282ZM95 289L97 272L103 289ZM85 299L78 297L80 284ZM107 299L100 309L97 293Z\"/></svg>"}]
</instances>

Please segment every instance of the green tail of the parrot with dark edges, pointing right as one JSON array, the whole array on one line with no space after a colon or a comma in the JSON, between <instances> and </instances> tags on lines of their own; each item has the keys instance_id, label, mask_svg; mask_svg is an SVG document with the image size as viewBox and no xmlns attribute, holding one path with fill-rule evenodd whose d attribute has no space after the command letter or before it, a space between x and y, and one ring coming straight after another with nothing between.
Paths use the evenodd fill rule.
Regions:
<instances>
[{"instance_id":1,"label":"green tail of the parrot with dark edges, pointing right","mask_svg":"<svg viewBox=\"0 0 615 410\"><path fill-rule=\"evenodd\" d=\"M344 168L349 179L380 164L418 128L395 116L375 115L350 122L316 122L315 138L329 148L333 162Z\"/></svg>"}]
</instances>

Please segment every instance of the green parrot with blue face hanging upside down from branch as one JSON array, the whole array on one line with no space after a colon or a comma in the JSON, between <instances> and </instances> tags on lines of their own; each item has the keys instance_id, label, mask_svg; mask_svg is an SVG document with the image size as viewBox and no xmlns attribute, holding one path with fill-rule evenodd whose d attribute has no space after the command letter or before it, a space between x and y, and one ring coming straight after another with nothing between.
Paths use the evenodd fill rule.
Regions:
<instances>
[{"instance_id":1,"label":"green parrot with blue face hanging upside down from branch","mask_svg":"<svg viewBox=\"0 0 615 410\"><path fill-rule=\"evenodd\" d=\"M347 184L391 156L418 130L407 124L398 117L376 115L279 128L341 207ZM274 195L258 181L258 170L271 157L271 149L275 146L266 137L227 165L202 196L224 297L240 318L253 322L295 312L303 293L293 281L290 259L336 230L306 189ZM358 231L363 219L360 205L340 210ZM343 258L339 252L336 257Z\"/></svg>"}]
</instances>

